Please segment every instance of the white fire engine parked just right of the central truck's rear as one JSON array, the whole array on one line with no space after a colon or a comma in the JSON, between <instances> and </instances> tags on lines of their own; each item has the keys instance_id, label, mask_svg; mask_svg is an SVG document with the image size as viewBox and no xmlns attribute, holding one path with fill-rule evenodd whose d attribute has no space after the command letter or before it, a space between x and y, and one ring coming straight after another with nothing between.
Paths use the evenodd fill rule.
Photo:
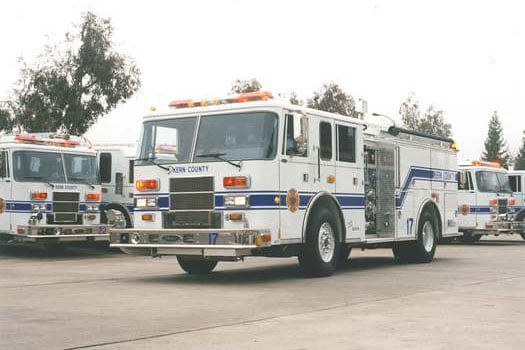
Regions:
<instances>
[{"instance_id":1,"label":"white fire engine parked just right of the central truck's rear","mask_svg":"<svg viewBox=\"0 0 525 350\"><path fill-rule=\"evenodd\" d=\"M498 163L478 160L458 168L461 239L475 242L483 235L521 233L524 226L515 220L512 208L517 201L512 196L507 171Z\"/></svg>"}]
</instances>

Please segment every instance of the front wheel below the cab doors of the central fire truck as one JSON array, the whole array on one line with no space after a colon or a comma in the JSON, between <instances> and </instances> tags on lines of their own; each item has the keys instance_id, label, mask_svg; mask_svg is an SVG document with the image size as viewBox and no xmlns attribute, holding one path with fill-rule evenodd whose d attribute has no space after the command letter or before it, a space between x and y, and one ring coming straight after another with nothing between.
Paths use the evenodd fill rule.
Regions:
<instances>
[{"instance_id":1,"label":"front wheel below the cab doors of the central fire truck","mask_svg":"<svg viewBox=\"0 0 525 350\"><path fill-rule=\"evenodd\" d=\"M299 264L307 277L326 277L334 273L340 256L340 224L329 207L316 209L308 221L306 243Z\"/></svg>"}]
</instances>

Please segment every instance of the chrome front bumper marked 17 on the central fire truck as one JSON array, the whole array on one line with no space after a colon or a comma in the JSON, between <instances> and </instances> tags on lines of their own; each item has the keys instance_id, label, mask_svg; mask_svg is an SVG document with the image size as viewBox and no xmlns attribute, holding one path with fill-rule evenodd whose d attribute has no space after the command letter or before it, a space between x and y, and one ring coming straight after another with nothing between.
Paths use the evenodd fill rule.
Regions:
<instances>
[{"instance_id":1,"label":"chrome front bumper marked 17 on the central fire truck","mask_svg":"<svg viewBox=\"0 0 525 350\"><path fill-rule=\"evenodd\" d=\"M111 247L153 256L242 257L271 245L267 229L111 229Z\"/></svg>"}]
</instances>

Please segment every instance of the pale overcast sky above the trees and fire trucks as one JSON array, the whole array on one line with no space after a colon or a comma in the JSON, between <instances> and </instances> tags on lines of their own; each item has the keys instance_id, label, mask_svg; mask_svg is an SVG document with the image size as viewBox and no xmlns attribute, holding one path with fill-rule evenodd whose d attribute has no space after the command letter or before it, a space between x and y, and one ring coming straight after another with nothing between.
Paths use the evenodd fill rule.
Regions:
<instances>
[{"instance_id":1,"label":"pale overcast sky above the trees and fire trucks","mask_svg":"<svg viewBox=\"0 0 525 350\"><path fill-rule=\"evenodd\" d=\"M110 17L116 49L133 57L142 88L88 132L134 141L150 106L225 95L237 79L311 96L334 81L369 111L397 116L413 92L452 123L461 158L478 158L494 110L511 151L525 130L522 1L5 1L0 100L48 42L82 12Z\"/></svg>"}]
</instances>

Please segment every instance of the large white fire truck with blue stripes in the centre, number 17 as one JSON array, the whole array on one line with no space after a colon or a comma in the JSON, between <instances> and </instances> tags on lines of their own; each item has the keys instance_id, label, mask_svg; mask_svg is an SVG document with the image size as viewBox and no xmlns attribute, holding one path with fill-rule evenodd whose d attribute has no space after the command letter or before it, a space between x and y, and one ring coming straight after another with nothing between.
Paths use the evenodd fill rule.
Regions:
<instances>
[{"instance_id":1,"label":"large white fire truck with blue stripes in the centre, number 17","mask_svg":"<svg viewBox=\"0 0 525 350\"><path fill-rule=\"evenodd\" d=\"M269 92L173 101L144 118L134 228L111 244L174 255L188 273L218 261L297 256L327 276L353 247L430 262L458 235L451 139L292 105Z\"/></svg>"}]
</instances>

